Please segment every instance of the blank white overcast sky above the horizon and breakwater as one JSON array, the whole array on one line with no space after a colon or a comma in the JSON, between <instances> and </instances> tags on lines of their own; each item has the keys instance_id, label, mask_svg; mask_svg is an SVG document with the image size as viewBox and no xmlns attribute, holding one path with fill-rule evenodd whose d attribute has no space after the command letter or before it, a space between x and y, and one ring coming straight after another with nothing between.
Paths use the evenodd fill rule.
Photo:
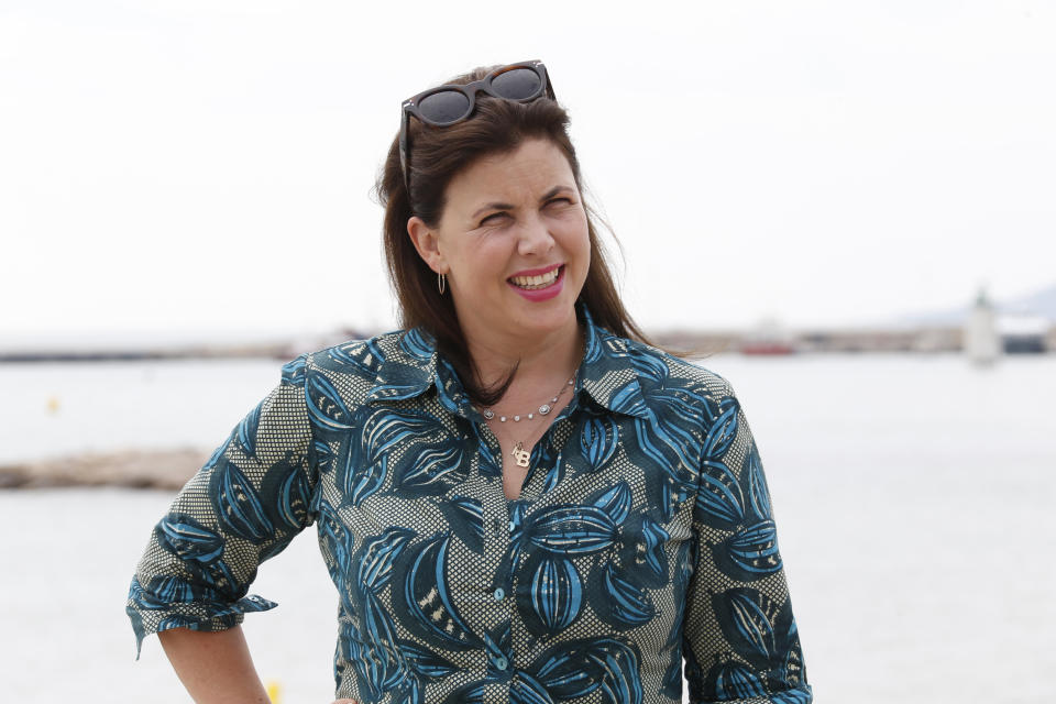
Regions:
<instances>
[{"instance_id":1,"label":"blank white overcast sky above the horizon and breakwater","mask_svg":"<svg viewBox=\"0 0 1056 704\"><path fill-rule=\"evenodd\" d=\"M647 329L1056 283L1056 4L0 0L0 336L395 321L400 101L541 58Z\"/></svg>"}]
</instances>

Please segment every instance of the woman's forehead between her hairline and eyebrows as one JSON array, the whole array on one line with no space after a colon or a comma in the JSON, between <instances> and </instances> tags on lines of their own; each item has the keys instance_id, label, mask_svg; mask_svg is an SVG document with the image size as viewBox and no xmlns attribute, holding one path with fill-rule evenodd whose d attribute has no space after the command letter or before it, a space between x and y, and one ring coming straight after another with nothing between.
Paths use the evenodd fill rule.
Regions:
<instances>
[{"instance_id":1,"label":"woman's forehead between her hairline and eyebrows","mask_svg":"<svg viewBox=\"0 0 1056 704\"><path fill-rule=\"evenodd\" d=\"M513 152L483 156L455 174L448 184L448 206L535 199L556 186L575 188L569 160L549 140L528 140Z\"/></svg>"}]
</instances>

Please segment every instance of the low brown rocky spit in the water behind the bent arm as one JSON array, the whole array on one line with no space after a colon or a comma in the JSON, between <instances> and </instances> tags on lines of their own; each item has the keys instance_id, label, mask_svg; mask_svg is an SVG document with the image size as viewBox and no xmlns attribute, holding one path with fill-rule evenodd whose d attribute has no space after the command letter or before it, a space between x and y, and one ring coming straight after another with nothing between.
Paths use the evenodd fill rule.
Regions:
<instances>
[{"instance_id":1,"label":"low brown rocky spit in the water behind the bent arm","mask_svg":"<svg viewBox=\"0 0 1056 704\"><path fill-rule=\"evenodd\" d=\"M208 450L125 450L0 464L0 490L120 486L178 490L205 464Z\"/></svg>"}]
</instances>

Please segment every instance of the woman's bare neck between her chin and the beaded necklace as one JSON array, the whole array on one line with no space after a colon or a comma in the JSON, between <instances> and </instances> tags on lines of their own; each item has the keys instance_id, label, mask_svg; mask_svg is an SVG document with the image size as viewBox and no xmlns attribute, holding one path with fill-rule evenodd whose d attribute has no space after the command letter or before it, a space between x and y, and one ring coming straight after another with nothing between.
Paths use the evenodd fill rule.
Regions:
<instances>
[{"instance_id":1,"label":"woman's bare neck between her chin and the beaded necklace","mask_svg":"<svg viewBox=\"0 0 1056 704\"><path fill-rule=\"evenodd\" d=\"M575 315L560 329L528 338L466 333L466 346L485 385L506 378L517 365L517 376L509 392L546 385L549 392L558 377L568 378L579 367L583 355L582 334ZM556 387L556 386L554 386ZM518 396L507 393L507 396Z\"/></svg>"}]
</instances>

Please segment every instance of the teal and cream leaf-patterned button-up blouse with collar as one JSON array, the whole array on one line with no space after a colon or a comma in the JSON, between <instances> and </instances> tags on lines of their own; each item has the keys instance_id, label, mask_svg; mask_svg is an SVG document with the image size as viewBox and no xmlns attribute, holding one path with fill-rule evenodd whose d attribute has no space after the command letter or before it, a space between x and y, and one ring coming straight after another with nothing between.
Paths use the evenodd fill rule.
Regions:
<instances>
[{"instance_id":1,"label":"teal and cream leaf-patterned button-up blouse with collar","mask_svg":"<svg viewBox=\"0 0 1056 704\"><path fill-rule=\"evenodd\" d=\"M316 524L338 697L362 703L812 701L770 495L721 376L596 327L517 499L418 329L283 367L151 535L138 646L275 604L260 563Z\"/></svg>"}]
</instances>

